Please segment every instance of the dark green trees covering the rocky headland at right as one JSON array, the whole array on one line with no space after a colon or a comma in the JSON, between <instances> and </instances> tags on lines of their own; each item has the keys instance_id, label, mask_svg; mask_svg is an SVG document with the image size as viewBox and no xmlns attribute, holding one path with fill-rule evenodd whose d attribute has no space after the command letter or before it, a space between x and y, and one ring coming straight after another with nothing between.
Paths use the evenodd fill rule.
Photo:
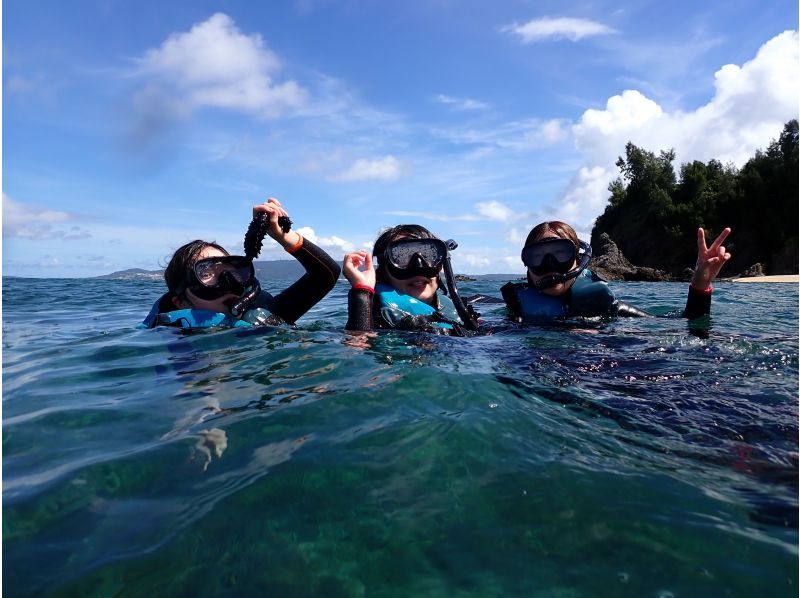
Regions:
<instances>
[{"instance_id":1,"label":"dark green trees covering the rocky headland at right","mask_svg":"<svg viewBox=\"0 0 800 598\"><path fill-rule=\"evenodd\" d=\"M679 274L694 265L698 226L713 237L733 228L729 273L760 262L770 273L797 272L798 123L788 122L765 152L741 170L718 160L683 164L633 143L617 160L620 178L597 218L592 242L605 232L636 265Z\"/></svg>"}]
</instances>

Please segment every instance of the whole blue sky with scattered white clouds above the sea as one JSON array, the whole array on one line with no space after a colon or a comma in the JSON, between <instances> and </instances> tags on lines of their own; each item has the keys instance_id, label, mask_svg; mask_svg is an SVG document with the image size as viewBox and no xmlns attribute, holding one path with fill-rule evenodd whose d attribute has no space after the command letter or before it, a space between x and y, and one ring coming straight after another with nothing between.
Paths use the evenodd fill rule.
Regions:
<instances>
[{"instance_id":1,"label":"whole blue sky with scattered white clouds above the sea","mask_svg":"<svg viewBox=\"0 0 800 598\"><path fill-rule=\"evenodd\" d=\"M3 274L238 252L270 196L336 259L416 222L457 271L522 272L532 225L589 234L626 141L741 165L777 137L797 26L763 0L6 0Z\"/></svg>"}]
</instances>

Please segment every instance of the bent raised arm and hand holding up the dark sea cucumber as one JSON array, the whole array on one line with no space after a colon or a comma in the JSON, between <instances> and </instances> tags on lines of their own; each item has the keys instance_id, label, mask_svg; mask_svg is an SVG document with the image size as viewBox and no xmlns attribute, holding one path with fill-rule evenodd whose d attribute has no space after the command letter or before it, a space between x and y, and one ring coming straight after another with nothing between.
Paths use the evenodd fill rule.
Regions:
<instances>
[{"instance_id":1,"label":"bent raised arm and hand holding up the dark sea cucumber","mask_svg":"<svg viewBox=\"0 0 800 598\"><path fill-rule=\"evenodd\" d=\"M288 289L276 295L270 305L272 313L293 324L330 292L336 285L341 270L339 264L327 253L304 239L298 232L283 232L278 218L288 214L277 199L270 198L265 203L254 206L253 215L259 212L269 214L267 234L306 269L306 273Z\"/></svg>"}]
</instances>

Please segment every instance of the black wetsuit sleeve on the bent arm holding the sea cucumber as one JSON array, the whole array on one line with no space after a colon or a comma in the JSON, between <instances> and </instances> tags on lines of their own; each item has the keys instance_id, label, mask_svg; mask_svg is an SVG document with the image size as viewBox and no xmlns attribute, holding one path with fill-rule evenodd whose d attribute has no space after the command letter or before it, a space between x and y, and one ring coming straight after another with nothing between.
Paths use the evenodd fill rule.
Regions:
<instances>
[{"instance_id":1,"label":"black wetsuit sleeve on the bent arm holding the sea cucumber","mask_svg":"<svg viewBox=\"0 0 800 598\"><path fill-rule=\"evenodd\" d=\"M272 313L290 324L294 324L330 292L341 272L339 264L331 256L306 238L292 255L303 265L306 273L276 295L270 306Z\"/></svg>"}]
</instances>

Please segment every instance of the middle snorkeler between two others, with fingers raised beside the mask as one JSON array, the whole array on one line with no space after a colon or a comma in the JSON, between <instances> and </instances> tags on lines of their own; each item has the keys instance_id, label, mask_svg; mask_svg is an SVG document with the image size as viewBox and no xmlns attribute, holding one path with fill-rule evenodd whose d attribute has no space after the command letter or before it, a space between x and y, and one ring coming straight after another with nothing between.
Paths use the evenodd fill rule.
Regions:
<instances>
[{"instance_id":1,"label":"middle snorkeler between two others, with fingers raised beside the mask","mask_svg":"<svg viewBox=\"0 0 800 598\"><path fill-rule=\"evenodd\" d=\"M454 241L442 241L423 226L401 224L381 233L372 254L345 255L342 271L351 285L347 330L394 328L460 336L477 328L475 314L455 288L449 262L449 250L455 247Z\"/></svg>"}]
</instances>

